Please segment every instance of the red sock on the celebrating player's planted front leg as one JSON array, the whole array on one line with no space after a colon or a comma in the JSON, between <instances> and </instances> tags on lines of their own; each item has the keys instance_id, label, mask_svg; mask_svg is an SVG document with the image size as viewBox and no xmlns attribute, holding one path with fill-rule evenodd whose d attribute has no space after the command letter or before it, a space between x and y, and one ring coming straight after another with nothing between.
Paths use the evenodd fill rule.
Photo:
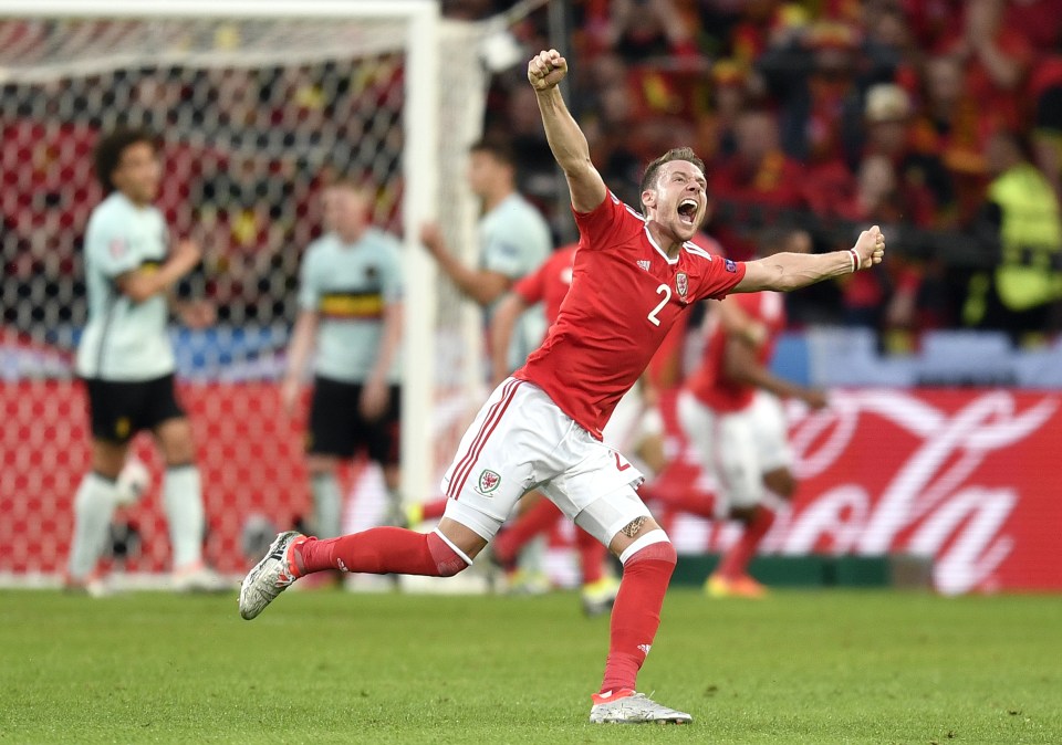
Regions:
<instances>
[{"instance_id":1,"label":"red sock on the celebrating player's planted front leg","mask_svg":"<svg viewBox=\"0 0 1062 745\"><path fill-rule=\"evenodd\" d=\"M660 626L660 607L677 558L675 547L664 541L649 544L623 565L600 693L634 689Z\"/></svg>"}]
</instances>

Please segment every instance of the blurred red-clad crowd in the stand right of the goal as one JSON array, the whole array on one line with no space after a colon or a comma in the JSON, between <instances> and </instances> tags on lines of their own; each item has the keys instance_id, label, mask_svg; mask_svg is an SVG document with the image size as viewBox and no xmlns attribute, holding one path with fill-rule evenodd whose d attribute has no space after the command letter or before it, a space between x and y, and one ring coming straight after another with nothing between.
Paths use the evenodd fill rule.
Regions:
<instances>
[{"instance_id":1,"label":"blurred red-clad crowd in the stand right of the goal","mask_svg":"<svg viewBox=\"0 0 1062 745\"><path fill-rule=\"evenodd\" d=\"M570 23L573 108L628 202L644 162L691 144L708 230L735 258L779 228L829 250L888 225L887 267L801 297L796 323L899 346L927 328L1028 343L1059 327L1062 1L583 0ZM518 33L549 45L533 19ZM494 86L489 126L514 135L527 189L550 203L522 74Z\"/></svg>"}]
</instances>

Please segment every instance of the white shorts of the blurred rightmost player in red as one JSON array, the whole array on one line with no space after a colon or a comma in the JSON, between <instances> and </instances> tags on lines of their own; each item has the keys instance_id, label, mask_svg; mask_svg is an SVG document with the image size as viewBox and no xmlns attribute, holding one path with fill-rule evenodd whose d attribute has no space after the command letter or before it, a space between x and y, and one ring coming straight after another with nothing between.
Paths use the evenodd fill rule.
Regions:
<instances>
[{"instance_id":1,"label":"white shorts of the blurred rightmost player in red","mask_svg":"<svg viewBox=\"0 0 1062 745\"><path fill-rule=\"evenodd\" d=\"M763 474L791 468L785 412L772 394L756 391L741 411L717 413L688 390L678 397L678 421L704 468L719 484L716 514L763 500Z\"/></svg>"}]
</instances>

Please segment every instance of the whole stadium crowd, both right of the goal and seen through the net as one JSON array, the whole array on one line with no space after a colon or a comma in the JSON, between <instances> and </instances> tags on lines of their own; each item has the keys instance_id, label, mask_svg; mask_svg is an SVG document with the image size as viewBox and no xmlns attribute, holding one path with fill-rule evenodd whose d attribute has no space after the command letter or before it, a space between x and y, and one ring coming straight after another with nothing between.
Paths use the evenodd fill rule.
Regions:
<instances>
[{"instance_id":1,"label":"whole stadium crowd, both right of the goal and seen through the net","mask_svg":"<svg viewBox=\"0 0 1062 745\"><path fill-rule=\"evenodd\" d=\"M442 9L481 19L513 4L446 0ZM736 259L785 231L830 250L847 245L855 225L887 225L887 266L794 297L795 325L870 326L898 348L931 328L1002 328L1034 343L1062 327L1062 0L562 7L572 108L624 200L637 204L646 161L689 144L708 165L707 230ZM525 50L551 45L551 12L540 6L517 21ZM23 25L4 43L46 46L46 24ZM98 112L121 112L164 133L198 133L167 143L174 178L162 204L177 230L211 233L208 292L221 319L288 318L289 249L312 238L308 204L327 164L344 167L344 147L371 126L358 107L400 96L398 73L382 70L373 80L326 64L140 70L3 85L4 294L43 293L73 308L58 321L77 323L81 291L66 282L80 261L71 228L98 200L91 146L113 124ZM563 185L522 63L496 75L488 104L488 134L512 140L522 190L566 241ZM201 120L205 111L211 120ZM371 175L397 165L397 156L373 164ZM382 203L377 217L395 227L396 209ZM4 303L4 319L40 322L22 317L24 305Z\"/></svg>"}]
</instances>

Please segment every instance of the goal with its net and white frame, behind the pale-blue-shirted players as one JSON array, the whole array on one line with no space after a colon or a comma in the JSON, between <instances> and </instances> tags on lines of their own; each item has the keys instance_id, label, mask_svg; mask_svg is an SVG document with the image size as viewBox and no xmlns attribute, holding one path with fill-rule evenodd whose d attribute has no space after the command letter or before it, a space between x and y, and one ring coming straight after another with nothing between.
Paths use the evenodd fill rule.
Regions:
<instances>
[{"instance_id":1,"label":"goal with its net and white frame, behind the pale-blue-shirted players","mask_svg":"<svg viewBox=\"0 0 1062 745\"><path fill-rule=\"evenodd\" d=\"M54 577L66 555L88 466L72 353L85 322L81 244L101 199L92 150L118 125L159 135L158 206L173 237L204 246L178 294L218 308L214 328L173 329L208 559L241 571L259 533L310 514L304 422L282 413L277 380L319 195L339 176L371 180L375 221L405 243L404 491L435 493L478 396L481 339L416 239L437 220L475 255L464 175L486 97L481 33L440 19L431 0L0 0L0 577ZM133 452L154 485L118 514L113 560L158 573L169 552L160 463L145 436ZM382 510L377 491L355 489L347 527Z\"/></svg>"}]
</instances>

